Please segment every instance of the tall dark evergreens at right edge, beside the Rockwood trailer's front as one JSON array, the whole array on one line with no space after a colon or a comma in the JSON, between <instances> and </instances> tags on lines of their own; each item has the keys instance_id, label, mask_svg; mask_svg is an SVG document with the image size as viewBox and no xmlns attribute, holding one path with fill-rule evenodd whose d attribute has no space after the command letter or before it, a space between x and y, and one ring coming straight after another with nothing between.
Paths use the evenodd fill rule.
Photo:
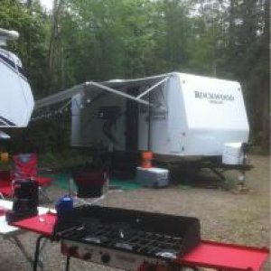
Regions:
<instances>
[{"instance_id":1,"label":"tall dark evergreens at right edge, beside the Rockwood trailer's front","mask_svg":"<svg viewBox=\"0 0 271 271\"><path fill-rule=\"evenodd\" d=\"M270 121L268 22L269 1L230 1L229 69L243 83L252 138L264 149L269 145Z\"/></svg>"}]
</instances>

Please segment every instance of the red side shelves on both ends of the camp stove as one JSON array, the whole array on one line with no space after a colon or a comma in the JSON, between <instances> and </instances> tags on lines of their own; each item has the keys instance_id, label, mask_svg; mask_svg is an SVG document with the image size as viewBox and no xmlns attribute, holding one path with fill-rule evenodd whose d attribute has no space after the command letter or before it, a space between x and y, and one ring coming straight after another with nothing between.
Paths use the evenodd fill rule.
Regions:
<instances>
[{"instance_id":1,"label":"red side shelves on both ends of the camp stove","mask_svg":"<svg viewBox=\"0 0 271 271\"><path fill-rule=\"evenodd\" d=\"M56 221L56 214L47 213L14 222L15 227L40 234L37 239L33 270L39 259L42 238L51 238ZM176 262L180 266L210 267L217 270L258 271L264 266L269 250L201 240L198 247Z\"/></svg>"}]
</instances>

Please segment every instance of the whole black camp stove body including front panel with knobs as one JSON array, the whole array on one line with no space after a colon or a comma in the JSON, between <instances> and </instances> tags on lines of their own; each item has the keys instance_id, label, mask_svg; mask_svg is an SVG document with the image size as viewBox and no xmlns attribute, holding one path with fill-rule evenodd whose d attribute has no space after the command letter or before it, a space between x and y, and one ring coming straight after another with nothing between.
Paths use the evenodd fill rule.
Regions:
<instances>
[{"instance_id":1,"label":"whole black camp stove body including front panel with knobs","mask_svg":"<svg viewBox=\"0 0 271 271\"><path fill-rule=\"evenodd\" d=\"M58 220L54 235L69 259L126 270L169 265L201 241L196 218L100 206L75 208Z\"/></svg>"}]
</instances>

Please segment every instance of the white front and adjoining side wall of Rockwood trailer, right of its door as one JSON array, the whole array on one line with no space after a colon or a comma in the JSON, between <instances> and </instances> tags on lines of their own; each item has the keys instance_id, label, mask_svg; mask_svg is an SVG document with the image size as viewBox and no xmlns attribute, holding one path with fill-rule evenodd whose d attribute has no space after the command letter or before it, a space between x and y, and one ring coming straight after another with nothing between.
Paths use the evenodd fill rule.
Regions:
<instances>
[{"instance_id":1,"label":"white front and adjoining side wall of Rockwood trailer, right of its door","mask_svg":"<svg viewBox=\"0 0 271 271\"><path fill-rule=\"evenodd\" d=\"M173 73L150 95L166 104L159 117L152 109L150 150L157 154L221 155L223 145L248 142L248 117L238 82ZM158 117L157 117L158 116ZM139 112L139 149L148 149L148 110Z\"/></svg>"}]
</instances>

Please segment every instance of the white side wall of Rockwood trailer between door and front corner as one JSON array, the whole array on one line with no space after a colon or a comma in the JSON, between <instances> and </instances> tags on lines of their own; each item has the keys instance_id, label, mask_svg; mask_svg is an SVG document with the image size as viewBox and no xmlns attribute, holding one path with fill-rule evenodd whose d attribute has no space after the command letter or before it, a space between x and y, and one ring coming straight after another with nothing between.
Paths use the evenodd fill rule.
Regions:
<instances>
[{"instance_id":1,"label":"white side wall of Rockwood trailer between door and front corner","mask_svg":"<svg viewBox=\"0 0 271 271\"><path fill-rule=\"evenodd\" d=\"M164 105L166 112L151 108L150 150L156 154L182 153L182 131L185 130L185 112L180 80L172 75L162 87L150 94L154 104ZM148 150L148 109L139 112L139 150Z\"/></svg>"}]
</instances>

